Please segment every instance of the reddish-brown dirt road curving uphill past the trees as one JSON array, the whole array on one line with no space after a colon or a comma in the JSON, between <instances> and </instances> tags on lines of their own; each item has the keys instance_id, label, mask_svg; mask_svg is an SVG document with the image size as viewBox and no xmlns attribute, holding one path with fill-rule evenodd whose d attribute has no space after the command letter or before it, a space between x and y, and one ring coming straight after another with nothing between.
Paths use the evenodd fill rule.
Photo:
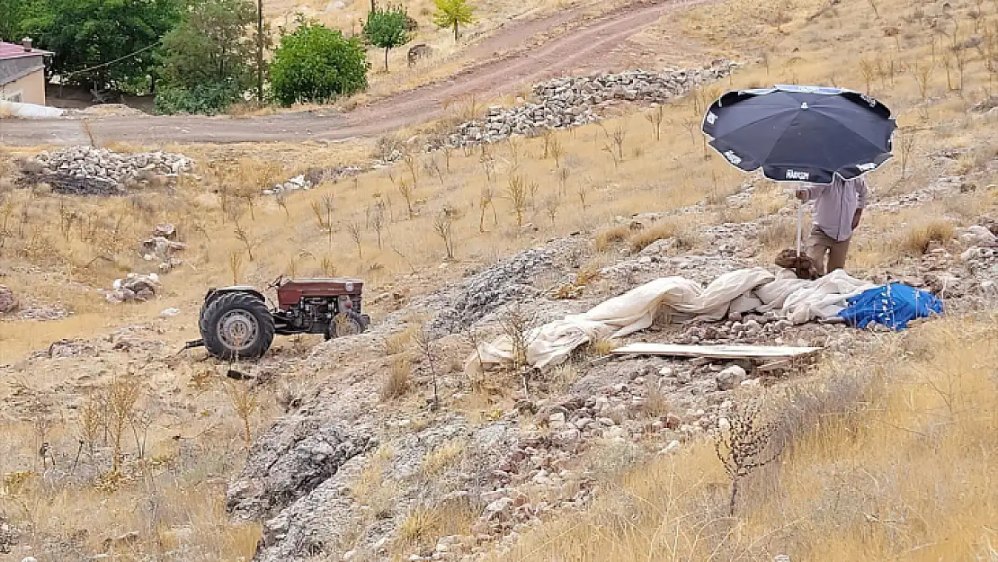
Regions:
<instances>
[{"instance_id":1,"label":"reddish-brown dirt road curving uphill past the trees","mask_svg":"<svg viewBox=\"0 0 998 562\"><path fill-rule=\"evenodd\" d=\"M475 94L490 98L516 92L524 86L591 65L628 37L651 25L669 9L705 2L643 2L611 12L557 37L540 47L483 61L448 80L402 92L349 113L285 113L234 119L229 117L106 117L90 121L101 142L135 144L241 143L269 141L336 141L373 137L442 116L443 104ZM535 34L566 23L564 15L529 24ZM510 26L487 40L488 49L512 48L527 39ZM481 49L481 48L479 48ZM9 145L79 144L89 142L81 122L59 120L5 120L0 143Z\"/></svg>"}]
</instances>

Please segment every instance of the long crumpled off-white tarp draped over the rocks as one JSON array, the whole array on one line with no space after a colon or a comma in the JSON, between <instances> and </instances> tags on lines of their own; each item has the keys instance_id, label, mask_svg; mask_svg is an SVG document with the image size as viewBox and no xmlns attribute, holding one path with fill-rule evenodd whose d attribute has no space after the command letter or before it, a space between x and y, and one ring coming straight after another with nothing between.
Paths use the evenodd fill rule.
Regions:
<instances>
[{"instance_id":1,"label":"long crumpled off-white tarp draped over the rocks","mask_svg":"<svg viewBox=\"0 0 998 562\"><path fill-rule=\"evenodd\" d=\"M762 268L725 274L704 288L685 278L661 278L637 286L581 314L536 327L527 336L527 362L542 368L557 364L576 347L607 336L620 337L648 328L656 316L668 321L717 321L730 310L775 311L795 324L836 316L850 296L875 286L837 270L816 280L777 279ZM506 335L478 346L470 361L482 366L509 361L513 344Z\"/></svg>"}]
</instances>

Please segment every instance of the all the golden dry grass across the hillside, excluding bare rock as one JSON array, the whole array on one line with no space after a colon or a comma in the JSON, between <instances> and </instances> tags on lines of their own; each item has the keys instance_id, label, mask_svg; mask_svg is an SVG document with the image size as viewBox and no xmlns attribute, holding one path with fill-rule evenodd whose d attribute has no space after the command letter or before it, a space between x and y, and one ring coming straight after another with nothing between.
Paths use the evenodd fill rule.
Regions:
<instances>
[{"instance_id":1,"label":"all the golden dry grass across the hillside, excluding bare rock","mask_svg":"<svg viewBox=\"0 0 998 562\"><path fill-rule=\"evenodd\" d=\"M990 4L985 4L985 23L993 26L996 10L988 12ZM931 21L959 22L957 35L962 41L974 25L967 19L969 4L953 3L952 15L942 16L940 6L881 0L879 19L865 2L840 2L828 9L823 9L824 5L823 0L790 4L731 0L690 8L682 20L670 16L656 27L670 34L685 27L718 51L761 50L763 63L750 65L718 85L725 88L799 82L862 90L866 77L858 61L866 58L867 70L873 73L869 77L873 95L894 108L906 127L920 131L905 177L901 178L900 166L885 167L871 177L876 192L900 195L922 188L939 174L936 166L946 174L972 176L982 188L995 184L998 178L991 164L996 146L994 118L968 109L984 99L985 90L991 89L993 95L994 74L980 53L967 50L963 70L950 67L951 85L942 61L933 56L941 50L939 41L950 39L932 32ZM732 17L734 14L738 17ZM815 14L821 15L808 19ZM952 29L949 25L947 33ZM881 37L881 26L896 26L900 33ZM400 56L401 51L393 56ZM395 62L392 64L397 67ZM446 64L437 67L440 72L448 68ZM935 66L929 74L915 71L930 64ZM386 78L401 79L401 84L416 80L415 74L424 70L416 69L409 78L401 73ZM957 84L961 89L952 90ZM387 81L385 85L385 91L396 87ZM439 176L421 174L414 183L402 164L365 174L356 181L327 182L308 193L290 194L282 202L250 200L250 194L220 188L234 182L262 185L275 166L279 166L281 178L288 178L311 166L362 162L371 154L373 143L167 146L163 148L194 156L203 180L183 181L176 190L143 192L127 199L66 198L44 191L4 193L0 223L5 205L10 215L9 222L0 225L0 236L5 237L0 268L7 273L3 283L40 303L63 304L76 315L55 322L0 322L0 362L19 360L27 351L44 348L59 338L91 337L108 327L151 323L160 310L174 305L182 314L158 320L162 338L168 345L193 338L204 289L231 282L229 257L245 250L246 245L235 234L235 220L248 240L258 241L253 249L255 260L244 262L240 281L263 285L278 273L288 273L288 265L294 264L299 276L330 275L333 270L338 275L362 276L369 293L376 293L382 286L392 290L395 285L429 290L453 281L467 269L545 240L578 231L597 232L620 216L668 212L706 201L714 208L699 221L746 220L785 205L779 194L761 190L744 209L726 207L727 196L742 184L744 176L706 152L697 132L701 106L711 94L705 90L666 106L661 140L650 134L649 121L642 114L625 114L608 120L603 127L553 134L547 142L556 140L559 152L564 153L559 164L562 170L571 171L567 182L553 159L541 158L545 139L538 138L457 151L448 170ZM452 106L455 114L471 111L474 104L459 105ZM623 160L620 152L611 160L603 151L604 146L612 145L607 131L626 132ZM402 132L399 137L410 133ZM925 157L953 148L970 151L957 161ZM23 156L32 151L8 152ZM247 158L259 164L250 166ZM417 170L430 164L430 158L417 155ZM483 163L489 163L487 169ZM536 185L536 197L517 205L500 198L498 194L513 177L522 178L528 187ZM411 215L399 195L402 178L413 184ZM9 181L9 174L0 173L0 185ZM491 189L496 197L480 222L484 189ZM312 203L321 205L323 201L334 209L330 214L333 221L325 229L311 220L310 211ZM553 219L542 204L547 201L558 203ZM379 248L374 234L366 232L361 252L357 252L346 226L366 224L369 210L379 203L387 212L384 244ZM459 212L452 225L454 251L465 263L440 269L446 249L433 233L433 220L445 204ZM913 213L920 219L904 211L896 216L867 213L853 241L850 269L863 272L897 262L907 237L898 225L923 225L920 221L925 217L971 220L967 217L970 214L994 209L995 196L981 189L958 204L950 200L942 208L916 208ZM60 210L69 213L64 215ZM525 224L539 231L516 228L517 212L523 214ZM66 224L63 217L72 213L82 220L71 228L61 228ZM167 221L176 223L183 241L191 245L184 256L187 266L165 278L165 292L154 302L105 304L94 289L109 286L125 272L148 271L149 265L136 255L135 242L147 236L156 223ZM697 222L687 217L679 221L680 225ZM88 225L93 225L93 235ZM912 247L921 251L925 241L948 240L945 226L934 229L924 236L913 236L916 244ZM626 229L614 231L617 234L604 236L602 243L597 236L598 250L622 245L631 235ZM763 234L761 242L792 242L792 232L787 231L785 226L774 226L772 232ZM608 491L589 514L555 523L544 536L527 535L516 559L706 560L713 556L719 560L740 555L771 559L772 554L781 552L802 560L993 558L988 545L989 541L990 545L998 544L993 525L998 514L991 491L995 487L988 480L993 461L986 456L993 447L989 448L986 438L998 428L992 414L998 411L998 404L993 383L989 386L982 366L994 364L994 356L989 354L992 347L981 333L993 328L993 322L940 322L938 327L924 328L932 339L896 340L891 336L886 338L887 345L911 343L897 343L882 354L863 356L863 360L841 368L828 366L835 372L862 373L874 368L871 365L888 365L877 374L890 375L892 391L886 397L871 394L849 401L853 407L848 411L859 412L855 418L834 410L838 413L822 417L824 421L816 427L808 425L782 464L770 467L773 471L778 468L781 484L774 488L768 472L763 471L753 486L765 493L749 489L745 511L736 519L716 509L727 499L727 482L713 450L696 445L630 472L615 484L606 483L603 489ZM386 344L385 351L401 346L404 342L400 337ZM593 346L601 354L610 347L609 342ZM173 373L167 367L162 371ZM566 366L556 374L561 380L556 383L568 385L579 372ZM32 376L56 386L57 382L62 384L67 370L35 372ZM171 379L160 378L157 383L167 385ZM10 380L0 380L4 394L13 394L15 388ZM28 542L36 556L43 552L55 560L72 559L79 552L92 556L103 552L106 539L136 529L142 530L136 550L146 557L168 559L159 553L164 545L174 549L175 544L189 545L191 550L177 550L182 553L179 559L185 560L235 560L252 555L258 527L230 522L224 512L224 491L214 484L216 476L228 477L238 470L245 427L220 406L226 403L221 391L205 398L184 394L183 399L195 404L194 411L225 410L229 419L198 439L188 437L206 430L211 418L189 414L182 419L160 420L159 427L184 427L184 438L174 441L166 430L150 435L150 456L162 454L170 459L169 469L152 470L152 479L147 472L97 490L94 482L107 483L106 478L97 477L97 472L106 473L110 468L105 457L100 470L94 469L93 478L82 484L36 484L18 492L17 497L0 498L5 517L18 525L32 526ZM483 419L498 417L502 411L494 415L496 403L502 399L488 396L482 399L481 408L475 409L484 412ZM71 464L77 447L75 414L68 408L64 413L70 422L56 416L47 432L53 447L60 451L60 466ZM266 423L273 415L273 411L260 412L254 419ZM36 453L39 435L33 427L29 422L0 426L10 437L0 445L5 447L0 449L0 472L41 468L42 459ZM184 448L192 443L191 448ZM382 451L372 458L351 488L354 498L371 508L367 512L372 517L392 514L395 509L397 488L385 477L387 457L379 456L384 454L389 453ZM129 443L125 473L135 466L132 455L134 447ZM86 454L83 462L90 462ZM166 515L160 511L160 519L154 519L143 511L143 506L153 504L169 506ZM24 510L22 505L32 509ZM101 507L95 509L98 505ZM470 508L462 511L426 503L409 513L411 521L406 523L404 537L410 542L431 543L441 534L463 532L466 527L462 525L476 514ZM82 545L73 546L72 554L45 550L49 548L46 545L59 542L52 537L72 537L81 531L89 534L81 539ZM192 554L193 550L204 554ZM674 556L673 551L678 554Z\"/></svg>"}]
</instances>

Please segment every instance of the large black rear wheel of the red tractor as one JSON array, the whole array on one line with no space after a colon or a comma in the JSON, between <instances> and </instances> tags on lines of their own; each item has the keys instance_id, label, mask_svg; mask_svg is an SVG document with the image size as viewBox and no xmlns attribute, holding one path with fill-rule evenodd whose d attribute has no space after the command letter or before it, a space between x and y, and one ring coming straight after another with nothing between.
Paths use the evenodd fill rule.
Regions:
<instances>
[{"instance_id":1,"label":"large black rear wheel of the red tractor","mask_svg":"<svg viewBox=\"0 0 998 562\"><path fill-rule=\"evenodd\" d=\"M249 292L227 292L201 312L201 337L209 353L227 361L263 356L273 341L273 316Z\"/></svg>"}]
</instances>

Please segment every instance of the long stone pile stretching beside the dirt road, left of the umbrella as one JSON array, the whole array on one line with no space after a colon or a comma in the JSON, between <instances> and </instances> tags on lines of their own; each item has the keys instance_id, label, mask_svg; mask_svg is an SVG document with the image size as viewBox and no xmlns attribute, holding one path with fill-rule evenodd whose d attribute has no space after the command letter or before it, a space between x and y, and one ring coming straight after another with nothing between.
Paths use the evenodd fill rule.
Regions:
<instances>
[{"instance_id":1,"label":"long stone pile stretching beside the dirt road, left of the umbrella","mask_svg":"<svg viewBox=\"0 0 998 562\"><path fill-rule=\"evenodd\" d=\"M718 61L701 70L649 72L635 70L556 78L533 88L536 102L512 108L490 107L484 120L458 126L448 142L453 147L492 143L511 135L530 135L541 129L566 129L599 120L596 111L612 103L664 103L691 90L729 76L737 63Z\"/></svg>"}]
</instances>

